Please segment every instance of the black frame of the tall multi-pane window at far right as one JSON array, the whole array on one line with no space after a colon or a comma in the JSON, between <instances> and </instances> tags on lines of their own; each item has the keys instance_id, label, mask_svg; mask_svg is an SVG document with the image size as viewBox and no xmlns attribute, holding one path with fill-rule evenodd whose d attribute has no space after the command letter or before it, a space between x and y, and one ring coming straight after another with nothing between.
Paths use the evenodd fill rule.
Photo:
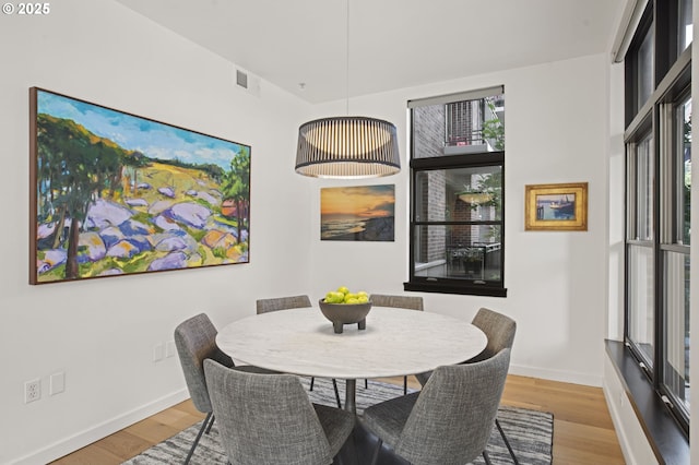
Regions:
<instances>
[{"instance_id":1,"label":"black frame of the tall multi-pane window at far right","mask_svg":"<svg viewBox=\"0 0 699 465\"><path fill-rule=\"evenodd\" d=\"M645 374L647 381L653 389L655 395L666 406L667 412L675 419L680 430L688 438L690 418L688 412L679 406L675 406L677 400L674 394L667 390L664 384L664 366L667 362L666 343L668 336L666 333L666 312L664 309L664 299L666 298L666 276L665 276L665 252L679 252L688 255L689 246L677 246L668 243L664 238L664 231L668 228L675 228L674 215L676 212L668 214L667 208L675 207L675 200L668 201L668 196L674 195L676 190L676 180L668 180L663 176L663 169L666 169L666 157L673 156L672 151L668 154L667 132L661 130L663 119L662 107L673 105L678 99L691 95L691 44L684 49L678 50L677 38L678 31L678 2L677 1L649 1L645 11L641 17L639 26L636 29L635 37L630 44L629 50L625 57L625 90L626 90L626 108L625 122L626 130L624 134L625 145L627 146L627 179L625 180L627 198L627 220L625 223L625 282L624 282L624 341L625 347L629 354L637 360ZM650 97L644 103L637 102L638 95L638 51L645 35L653 34L653 88ZM654 170L654 181L652 184L652 215L653 215L653 234L650 241L629 237L631 227L630 223L637 219L635 203L630 191L635 187L633 180L629 176L633 172L635 166L629 165L630 151L633 144L647 134L653 138L651 148L651 157ZM633 341L629 334L630 320L630 300L631 300L631 282L629 279L631 273L629 253L630 247L643 246L650 247L653 258L653 353L652 360L641 351L638 343ZM695 400L695 402L697 402Z\"/></svg>"}]
</instances>

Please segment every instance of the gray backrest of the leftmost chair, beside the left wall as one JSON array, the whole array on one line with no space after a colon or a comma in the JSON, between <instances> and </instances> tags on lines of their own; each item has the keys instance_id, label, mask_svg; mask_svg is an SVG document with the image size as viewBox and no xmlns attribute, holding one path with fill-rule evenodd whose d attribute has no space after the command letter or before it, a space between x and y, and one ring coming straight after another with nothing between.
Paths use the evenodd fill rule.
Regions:
<instances>
[{"instance_id":1,"label":"gray backrest of the leftmost chair, beside the left wall","mask_svg":"<svg viewBox=\"0 0 699 465\"><path fill-rule=\"evenodd\" d=\"M230 357L216 345L217 333L205 313L185 320L175 329L175 346L189 395L194 407L205 414L211 412L211 400L204 379L204 359L211 358L227 367L234 366Z\"/></svg>"}]
</instances>

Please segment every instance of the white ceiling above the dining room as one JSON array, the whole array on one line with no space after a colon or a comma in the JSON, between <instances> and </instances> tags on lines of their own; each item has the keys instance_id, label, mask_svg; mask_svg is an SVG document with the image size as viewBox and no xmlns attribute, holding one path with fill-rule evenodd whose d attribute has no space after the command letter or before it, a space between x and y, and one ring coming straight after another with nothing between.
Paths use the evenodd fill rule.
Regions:
<instances>
[{"instance_id":1,"label":"white ceiling above the dining room","mask_svg":"<svg viewBox=\"0 0 699 465\"><path fill-rule=\"evenodd\" d=\"M626 3L117 1L312 104L604 52Z\"/></svg>"}]
</instances>

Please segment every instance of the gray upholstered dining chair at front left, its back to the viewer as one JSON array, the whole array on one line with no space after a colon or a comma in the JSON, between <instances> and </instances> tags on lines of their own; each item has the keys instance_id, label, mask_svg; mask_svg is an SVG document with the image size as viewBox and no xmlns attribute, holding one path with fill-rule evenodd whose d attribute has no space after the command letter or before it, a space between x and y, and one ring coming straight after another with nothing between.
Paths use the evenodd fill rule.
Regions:
<instances>
[{"instance_id":1,"label":"gray upholstered dining chair at front left, its back to the viewer","mask_svg":"<svg viewBox=\"0 0 699 465\"><path fill-rule=\"evenodd\" d=\"M298 377L204 361L221 442L234 464L328 465L352 433L351 412L311 404Z\"/></svg>"}]
</instances>

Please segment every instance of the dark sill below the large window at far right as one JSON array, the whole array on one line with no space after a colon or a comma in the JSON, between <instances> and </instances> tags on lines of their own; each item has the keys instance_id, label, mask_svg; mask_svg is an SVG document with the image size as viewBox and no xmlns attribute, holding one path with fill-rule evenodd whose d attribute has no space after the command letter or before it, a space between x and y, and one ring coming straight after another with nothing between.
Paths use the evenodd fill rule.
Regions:
<instances>
[{"instance_id":1,"label":"dark sill below the large window at far right","mask_svg":"<svg viewBox=\"0 0 699 465\"><path fill-rule=\"evenodd\" d=\"M624 343L605 339L607 355L660 463L688 464L689 441Z\"/></svg>"}]
</instances>

